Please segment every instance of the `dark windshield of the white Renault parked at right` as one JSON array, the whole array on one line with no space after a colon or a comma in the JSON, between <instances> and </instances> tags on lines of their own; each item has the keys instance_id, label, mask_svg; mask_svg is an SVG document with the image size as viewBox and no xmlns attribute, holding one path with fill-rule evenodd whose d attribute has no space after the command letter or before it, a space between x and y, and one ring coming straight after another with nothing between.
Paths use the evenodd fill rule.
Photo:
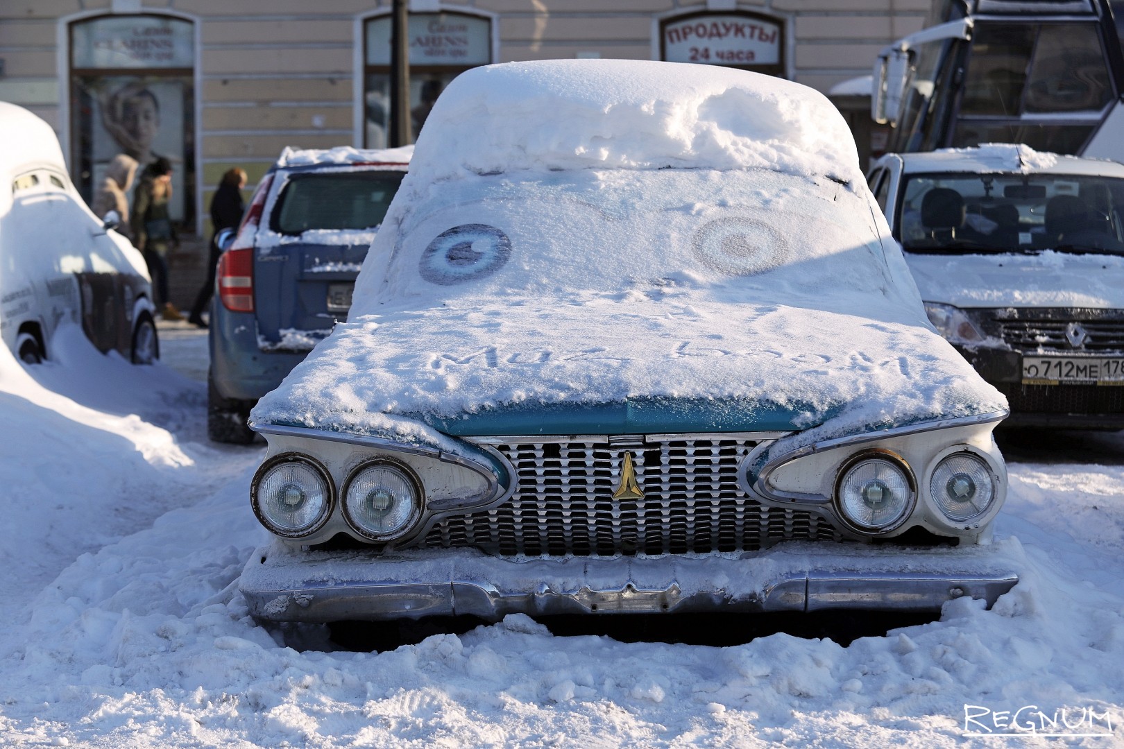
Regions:
<instances>
[{"instance_id":1,"label":"dark windshield of the white Renault parked at right","mask_svg":"<svg viewBox=\"0 0 1124 749\"><path fill-rule=\"evenodd\" d=\"M914 174L895 236L914 253L1057 249L1124 254L1124 180L1068 174Z\"/></svg>"}]
</instances>

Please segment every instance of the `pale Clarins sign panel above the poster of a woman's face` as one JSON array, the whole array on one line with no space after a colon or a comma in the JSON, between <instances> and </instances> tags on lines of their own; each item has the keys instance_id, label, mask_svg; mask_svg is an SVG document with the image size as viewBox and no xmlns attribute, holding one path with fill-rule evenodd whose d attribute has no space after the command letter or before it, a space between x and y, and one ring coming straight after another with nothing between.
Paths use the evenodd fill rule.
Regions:
<instances>
[{"instance_id":1,"label":"pale Clarins sign panel above the poster of a woman's face","mask_svg":"<svg viewBox=\"0 0 1124 749\"><path fill-rule=\"evenodd\" d=\"M158 16L106 16L72 28L76 68L192 67L190 21Z\"/></svg>"}]
</instances>

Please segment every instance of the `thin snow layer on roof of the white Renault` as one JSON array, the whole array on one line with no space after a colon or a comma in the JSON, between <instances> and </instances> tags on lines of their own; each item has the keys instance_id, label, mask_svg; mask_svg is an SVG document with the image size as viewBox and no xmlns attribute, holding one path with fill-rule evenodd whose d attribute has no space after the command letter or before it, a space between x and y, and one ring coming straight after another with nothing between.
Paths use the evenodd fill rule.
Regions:
<instances>
[{"instance_id":1,"label":"thin snow layer on roof of the white Renault","mask_svg":"<svg viewBox=\"0 0 1124 749\"><path fill-rule=\"evenodd\" d=\"M1023 144L985 143L973 148L941 148L922 154L898 154L906 174L925 172L1022 172L1024 174L1088 174L1124 177L1124 165L1100 158L1080 158Z\"/></svg>"}]
</instances>

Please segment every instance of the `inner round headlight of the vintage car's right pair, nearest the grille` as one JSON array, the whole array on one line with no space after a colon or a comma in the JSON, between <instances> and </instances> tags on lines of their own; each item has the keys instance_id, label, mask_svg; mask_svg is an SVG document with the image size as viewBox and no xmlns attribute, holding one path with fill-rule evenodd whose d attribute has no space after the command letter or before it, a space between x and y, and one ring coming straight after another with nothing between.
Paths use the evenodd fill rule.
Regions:
<instances>
[{"instance_id":1,"label":"inner round headlight of the vintage car's right pair, nearest the grille","mask_svg":"<svg viewBox=\"0 0 1124 749\"><path fill-rule=\"evenodd\" d=\"M905 467L879 456L851 463L840 476L835 496L844 520L864 532L892 530L914 504L913 482Z\"/></svg>"}]
</instances>

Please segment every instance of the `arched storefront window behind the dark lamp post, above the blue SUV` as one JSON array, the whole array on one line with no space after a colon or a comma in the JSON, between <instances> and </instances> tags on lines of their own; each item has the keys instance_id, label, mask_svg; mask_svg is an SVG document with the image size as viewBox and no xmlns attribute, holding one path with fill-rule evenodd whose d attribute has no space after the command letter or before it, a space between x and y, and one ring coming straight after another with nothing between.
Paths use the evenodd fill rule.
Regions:
<instances>
[{"instance_id":1,"label":"arched storefront window behind the dark lamp post, above the blue SUV","mask_svg":"<svg viewBox=\"0 0 1124 749\"><path fill-rule=\"evenodd\" d=\"M390 125L390 16L366 22L364 143L386 148ZM450 81L491 58L491 21L465 13L410 13L410 122L414 137Z\"/></svg>"}]
</instances>

